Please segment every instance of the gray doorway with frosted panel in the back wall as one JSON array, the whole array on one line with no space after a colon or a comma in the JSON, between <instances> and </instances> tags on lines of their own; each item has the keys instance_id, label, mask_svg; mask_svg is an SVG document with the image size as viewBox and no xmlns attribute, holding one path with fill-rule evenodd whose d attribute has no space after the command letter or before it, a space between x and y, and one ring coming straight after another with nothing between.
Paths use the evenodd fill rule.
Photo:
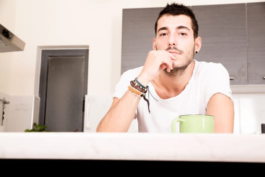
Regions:
<instances>
[{"instance_id":1,"label":"gray doorway with frosted panel in the back wall","mask_svg":"<svg viewBox=\"0 0 265 177\"><path fill-rule=\"evenodd\" d=\"M88 49L42 50L39 124L46 131L84 131Z\"/></svg>"}]
</instances>

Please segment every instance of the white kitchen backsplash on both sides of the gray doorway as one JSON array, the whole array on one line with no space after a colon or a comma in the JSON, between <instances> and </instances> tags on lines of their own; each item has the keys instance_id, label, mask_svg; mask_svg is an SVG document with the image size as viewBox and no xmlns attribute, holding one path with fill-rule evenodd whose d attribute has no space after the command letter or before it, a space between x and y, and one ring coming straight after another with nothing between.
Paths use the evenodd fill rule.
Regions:
<instances>
[{"instance_id":1,"label":"white kitchen backsplash on both sides of the gray doorway","mask_svg":"<svg viewBox=\"0 0 265 177\"><path fill-rule=\"evenodd\" d=\"M232 87L235 105L235 134L256 134L261 132L261 123L265 123L265 89L259 87L249 92ZM5 131L24 131L32 127L38 120L39 98L35 96L9 96L0 93L10 104L5 108ZM95 131L97 123L108 111L112 102L112 94L86 96L84 131ZM2 120L3 104L0 102L0 116ZM97 115L98 114L98 115ZM99 115L100 114L100 115ZM1 121L0 121L1 123ZM135 132L137 122L132 123L130 131Z\"/></svg>"}]
</instances>

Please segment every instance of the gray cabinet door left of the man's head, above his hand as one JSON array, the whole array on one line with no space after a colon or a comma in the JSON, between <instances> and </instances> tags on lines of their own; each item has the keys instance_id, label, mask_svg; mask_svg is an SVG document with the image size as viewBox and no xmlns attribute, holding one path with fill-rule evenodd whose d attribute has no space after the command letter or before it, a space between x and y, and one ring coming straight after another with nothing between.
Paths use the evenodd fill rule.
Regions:
<instances>
[{"instance_id":1,"label":"gray cabinet door left of the man's head, above his hand","mask_svg":"<svg viewBox=\"0 0 265 177\"><path fill-rule=\"evenodd\" d=\"M155 37L154 24L163 8L123 9L121 73L144 65Z\"/></svg>"}]
</instances>

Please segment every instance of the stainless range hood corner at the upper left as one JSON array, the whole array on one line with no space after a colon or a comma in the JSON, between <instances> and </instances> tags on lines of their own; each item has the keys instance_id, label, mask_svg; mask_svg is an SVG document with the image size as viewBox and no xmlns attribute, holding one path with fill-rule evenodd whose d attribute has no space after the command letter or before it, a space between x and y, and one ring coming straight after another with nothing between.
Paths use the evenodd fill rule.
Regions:
<instances>
[{"instance_id":1,"label":"stainless range hood corner at the upper left","mask_svg":"<svg viewBox=\"0 0 265 177\"><path fill-rule=\"evenodd\" d=\"M24 51L25 42L0 24L0 52Z\"/></svg>"}]
</instances>

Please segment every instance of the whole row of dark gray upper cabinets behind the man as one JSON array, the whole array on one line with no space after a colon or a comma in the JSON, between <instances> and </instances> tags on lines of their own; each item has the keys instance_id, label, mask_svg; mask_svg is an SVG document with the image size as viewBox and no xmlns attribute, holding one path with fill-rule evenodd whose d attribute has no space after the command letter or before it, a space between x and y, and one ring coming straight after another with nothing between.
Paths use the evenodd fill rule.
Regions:
<instances>
[{"instance_id":1,"label":"whole row of dark gray upper cabinets behind the man","mask_svg":"<svg viewBox=\"0 0 265 177\"><path fill-rule=\"evenodd\" d=\"M230 83L265 84L265 2L192 6L202 47L195 59L222 63ZM162 8L123 10L121 72L144 64Z\"/></svg>"}]
</instances>

